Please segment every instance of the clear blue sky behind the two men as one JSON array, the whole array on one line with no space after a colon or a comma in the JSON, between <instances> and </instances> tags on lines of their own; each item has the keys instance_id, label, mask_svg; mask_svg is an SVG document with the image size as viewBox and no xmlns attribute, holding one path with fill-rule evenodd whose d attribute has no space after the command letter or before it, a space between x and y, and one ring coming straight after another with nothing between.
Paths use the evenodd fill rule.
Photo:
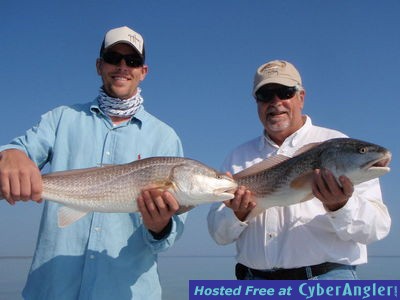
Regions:
<instances>
[{"instance_id":1,"label":"clear blue sky behind the two men","mask_svg":"<svg viewBox=\"0 0 400 300\"><path fill-rule=\"evenodd\" d=\"M382 180L393 226L370 254L400 255L400 2L397 0L11 1L0 18L0 144L62 104L92 100L104 33L142 33L148 111L175 128L185 154L219 168L225 155L261 133L251 86L272 59L294 63L306 89L304 112L320 126L393 152ZM232 255L208 236L208 206L194 209L166 255ZM41 205L0 203L0 256L33 253Z\"/></svg>"}]
</instances>

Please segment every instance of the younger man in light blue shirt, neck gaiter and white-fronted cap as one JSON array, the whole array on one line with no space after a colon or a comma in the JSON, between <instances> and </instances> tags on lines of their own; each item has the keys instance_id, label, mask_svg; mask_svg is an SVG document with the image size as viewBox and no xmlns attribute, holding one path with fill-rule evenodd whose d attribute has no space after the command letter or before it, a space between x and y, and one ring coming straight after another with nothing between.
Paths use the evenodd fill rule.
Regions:
<instances>
[{"instance_id":1,"label":"younger man in light blue shirt, neck gaiter and white-fronted cap","mask_svg":"<svg viewBox=\"0 0 400 300\"><path fill-rule=\"evenodd\" d=\"M90 103L62 106L0 147L0 192L14 204L41 202L40 169L121 164L183 156L175 131L145 111L142 36L128 27L107 32L96 61L103 85ZM89 213L58 228L59 205L45 202L25 299L161 299L157 254L177 240L185 215L168 192L143 191L139 213Z\"/></svg>"}]
</instances>

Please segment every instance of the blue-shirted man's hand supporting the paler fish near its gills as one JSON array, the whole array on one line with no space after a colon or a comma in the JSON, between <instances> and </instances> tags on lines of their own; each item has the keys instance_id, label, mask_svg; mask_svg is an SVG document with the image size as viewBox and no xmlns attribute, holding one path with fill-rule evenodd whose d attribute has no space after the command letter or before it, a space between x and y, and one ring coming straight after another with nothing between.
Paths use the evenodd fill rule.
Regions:
<instances>
[{"instance_id":1,"label":"blue-shirted man's hand supporting the paler fish near its gills","mask_svg":"<svg viewBox=\"0 0 400 300\"><path fill-rule=\"evenodd\" d=\"M137 205L143 224L156 234L163 231L179 209L179 203L171 193L157 189L142 191Z\"/></svg>"}]
</instances>

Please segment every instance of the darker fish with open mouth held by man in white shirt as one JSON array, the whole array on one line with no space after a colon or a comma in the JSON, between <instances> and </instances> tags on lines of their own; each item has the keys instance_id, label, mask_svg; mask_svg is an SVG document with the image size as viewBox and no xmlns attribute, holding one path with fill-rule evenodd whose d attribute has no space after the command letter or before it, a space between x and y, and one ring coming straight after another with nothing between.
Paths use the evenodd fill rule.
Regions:
<instances>
[{"instance_id":1,"label":"darker fish with open mouth held by man in white shirt","mask_svg":"<svg viewBox=\"0 0 400 300\"><path fill-rule=\"evenodd\" d=\"M287 206L312 199L315 169L330 170L336 180L347 176L353 184L390 171L391 153L368 142L336 138L300 148L292 158L277 155L233 175L239 186L252 191L256 207L247 219L272 206ZM339 182L339 181L338 181Z\"/></svg>"}]
</instances>

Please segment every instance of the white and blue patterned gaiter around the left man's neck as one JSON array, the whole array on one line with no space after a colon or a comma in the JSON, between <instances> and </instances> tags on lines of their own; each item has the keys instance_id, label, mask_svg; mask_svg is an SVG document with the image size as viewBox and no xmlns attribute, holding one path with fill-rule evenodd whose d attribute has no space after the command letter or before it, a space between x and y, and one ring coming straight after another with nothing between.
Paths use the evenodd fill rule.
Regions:
<instances>
[{"instance_id":1,"label":"white and blue patterned gaiter around the left man's neck","mask_svg":"<svg viewBox=\"0 0 400 300\"><path fill-rule=\"evenodd\" d=\"M132 117L143 103L143 98L140 95L141 91L138 87L136 95L123 100L108 96L104 89L100 88L97 102L100 109L110 117Z\"/></svg>"}]
</instances>

